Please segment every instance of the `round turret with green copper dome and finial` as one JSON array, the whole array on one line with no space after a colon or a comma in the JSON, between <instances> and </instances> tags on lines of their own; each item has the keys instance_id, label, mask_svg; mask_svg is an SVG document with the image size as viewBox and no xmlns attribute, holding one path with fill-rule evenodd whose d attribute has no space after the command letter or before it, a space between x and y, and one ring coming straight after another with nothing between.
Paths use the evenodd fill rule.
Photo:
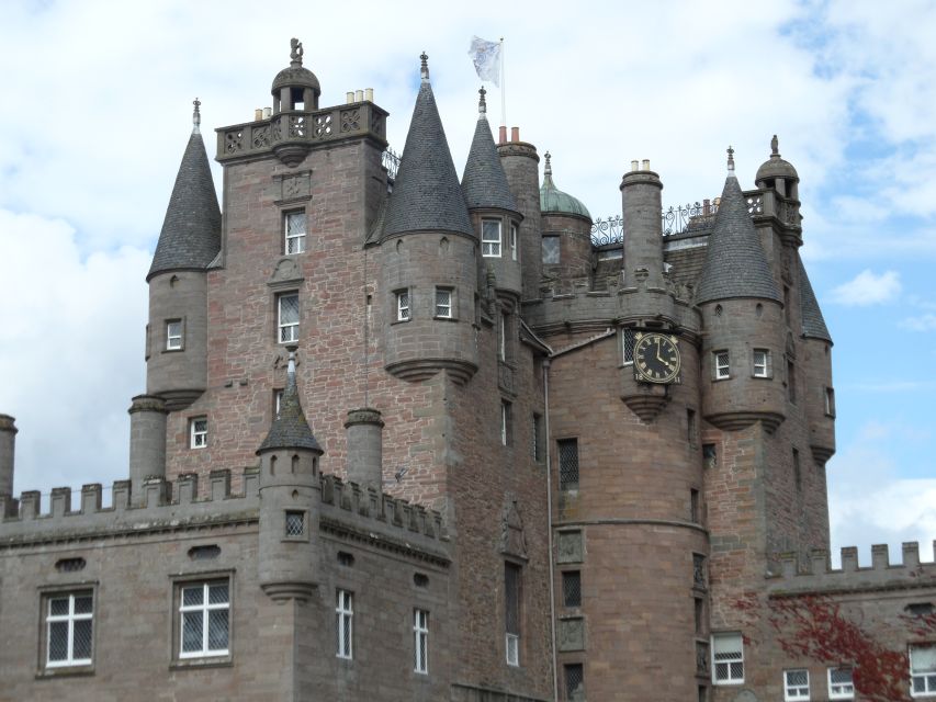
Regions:
<instances>
[{"instance_id":1,"label":"round turret with green copper dome and finial","mask_svg":"<svg viewBox=\"0 0 936 702\"><path fill-rule=\"evenodd\" d=\"M546 152L542 212L543 276L591 288L591 215L577 197L564 193L553 182L552 156Z\"/></svg>"}]
</instances>

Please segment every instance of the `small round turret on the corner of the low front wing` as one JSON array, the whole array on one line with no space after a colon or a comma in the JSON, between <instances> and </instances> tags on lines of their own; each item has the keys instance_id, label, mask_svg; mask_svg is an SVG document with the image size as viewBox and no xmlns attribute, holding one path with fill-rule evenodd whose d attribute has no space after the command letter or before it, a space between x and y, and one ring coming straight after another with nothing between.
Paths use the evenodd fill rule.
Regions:
<instances>
[{"instance_id":1,"label":"small round turret on the corner of the low front wing","mask_svg":"<svg viewBox=\"0 0 936 702\"><path fill-rule=\"evenodd\" d=\"M260 587L273 600L306 600L318 584L318 458L323 454L298 398L295 347L289 347L280 414L260 456Z\"/></svg>"}]
</instances>

